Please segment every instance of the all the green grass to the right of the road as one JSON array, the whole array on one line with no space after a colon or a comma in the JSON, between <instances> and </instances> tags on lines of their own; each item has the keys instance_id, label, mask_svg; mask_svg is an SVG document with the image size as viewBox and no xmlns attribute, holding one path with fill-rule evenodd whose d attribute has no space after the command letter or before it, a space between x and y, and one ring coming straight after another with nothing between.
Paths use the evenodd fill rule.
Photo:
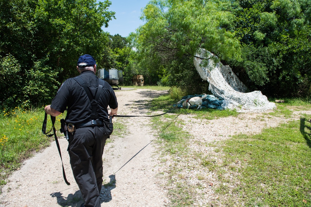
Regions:
<instances>
[{"instance_id":1,"label":"all the green grass to the right of the road","mask_svg":"<svg viewBox=\"0 0 311 207\"><path fill-rule=\"evenodd\" d=\"M167 110L176 102L169 95L161 96L151 101L150 109ZM288 99L284 104L276 105L274 112L263 114L262 118L290 118L295 110L311 109L310 103L300 99ZM192 159L200 160L197 165L217 175L220 185L212 188L224 206L311 206L311 124L305 121L311 119L310 115L304 115L300 121L264 129L257 135L240 134L223 142L197 143L214 147L222 159L219 162L214 157L191 152L188 148L191 135L182 130L183 123L178 116L188 114L197 119L218 119L238 113L211 109L176 109L172 113L155 117L152 122L154 129L159 131L161 162L170 163L168 172L160 173L166 176L167 186L174 186L168 191L170 206L193 206L195 203L194 197L198 196L195 191L200 186L189 185L182 173L185 169L198 167L189 164ZM195 137L192 142L196 142ZM180 162L186 165L176 164ZM204 180L202 174L197 178ZM211 205L218 204L212 201Z\"/></svg>"}]
</instances>

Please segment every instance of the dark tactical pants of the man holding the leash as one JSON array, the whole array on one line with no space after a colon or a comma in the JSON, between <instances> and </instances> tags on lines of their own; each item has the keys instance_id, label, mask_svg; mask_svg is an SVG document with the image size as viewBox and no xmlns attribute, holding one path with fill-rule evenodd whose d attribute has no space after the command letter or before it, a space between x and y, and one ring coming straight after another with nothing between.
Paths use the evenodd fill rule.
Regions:
<instances>
[{"instance_id":1,"label":"dark tactical pants of the man holding the leash","mask_svg":"<svg viewBox=\"0 0 311 207\"><path fill-rule=\"evenodd\" d=\"M85 200L85 207L100 206L99 195L103 183L102 156L106 139L103 126L78 128L74 135L69 133L70 164Z\"/></svg>"}]
</instances>

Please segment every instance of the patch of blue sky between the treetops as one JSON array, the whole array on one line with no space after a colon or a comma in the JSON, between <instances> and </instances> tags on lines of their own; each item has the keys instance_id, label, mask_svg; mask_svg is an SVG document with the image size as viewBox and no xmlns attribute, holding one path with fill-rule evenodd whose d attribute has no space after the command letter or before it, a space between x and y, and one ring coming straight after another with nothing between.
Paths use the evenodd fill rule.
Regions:
<instances>
[{"instance_id":1,"label":"patch of blue sky between the treetops","mask_svg":"<svg viewBox=\"0 0 311 207\"><path fill-rule=\"evenodd\" d=\"M131 32L143 25L144 22L139 19L141 10L150 0L110 0L109 11L116 12L116 20L109 21L108 28L102 27L105 32L111 35L120 34L127 37Z\"/></svg>"}]
</instances>

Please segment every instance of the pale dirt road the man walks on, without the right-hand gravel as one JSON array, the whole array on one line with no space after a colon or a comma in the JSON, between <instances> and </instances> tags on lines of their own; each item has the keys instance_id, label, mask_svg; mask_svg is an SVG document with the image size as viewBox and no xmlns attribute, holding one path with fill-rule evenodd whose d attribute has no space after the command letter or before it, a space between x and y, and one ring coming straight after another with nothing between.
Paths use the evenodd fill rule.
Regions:
<instances>
[{"instance_id":1,"label":"pale dirt road the man walks on, without the right-hand gravel","mask_svg":"<svg viewBox=\"0 0 311 207\"><path fill-rule=\"evenodd\" d=\"M116 91L118 114L146 113L148 99L166 92L146 89ZM118 119L118 120L117 120ZM147 117L115 118L127 125L128 133L115 137L104 150L104 182L110 185L101 191L102 206L163 206L168 199L156 178L157 157L153 154L153 133ZM80 206L81 193L72 176L67 153L67 140L60 137L67 186L63 181L62 163L55 142L26 160L21 169L12 173L2 189L0 207L18 206Z\"/></svg>"}]
</instances>

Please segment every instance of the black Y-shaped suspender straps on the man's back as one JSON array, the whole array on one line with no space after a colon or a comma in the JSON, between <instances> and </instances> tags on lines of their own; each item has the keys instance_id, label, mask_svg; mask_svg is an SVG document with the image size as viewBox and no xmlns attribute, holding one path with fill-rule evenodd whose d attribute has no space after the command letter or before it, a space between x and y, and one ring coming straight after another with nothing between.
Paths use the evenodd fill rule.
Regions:
<instances>
[{"instance_id":1,"label":"black Y-shaped suspender straps on the man's back","mask_svg":"<svg viewBox=\"0 0 311 207\"><path fill-rule=\"evenodd\" d=\"M85 81L80 77L77 76L73 78L76 80L85 90L87 97L89 97L91 105L92 105L92 113L91 113L91 119L95 120L98 119L98 113L96 112L97 103L101 94L101 89L104 87L105 82L102 79L98 79L98 88L95 94L95 99L93 98L90 90L87 88Z\"/></svg>"}]
</instances>

